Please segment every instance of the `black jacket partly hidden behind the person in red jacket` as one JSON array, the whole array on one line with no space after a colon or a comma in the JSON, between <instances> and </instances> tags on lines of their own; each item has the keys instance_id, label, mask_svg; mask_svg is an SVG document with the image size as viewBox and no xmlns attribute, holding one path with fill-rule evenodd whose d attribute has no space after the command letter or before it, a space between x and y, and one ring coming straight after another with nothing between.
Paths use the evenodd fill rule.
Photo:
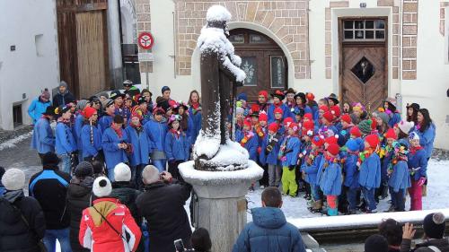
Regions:
<instances>
[{"instance_id":1,"label":"black jacket partly hidden behind the person in red jacket","mask_svg":"<svg viewBox=\"0 0 449 252\"><path fill-rule=\"evenodd\" d=\"M83 181L73 178L67 188L67 210L70 213L70 245L72 251L90 251L80 245L78 234L80 232L81 216L83 210L92 205L95 197L92 194L93 179L88 177Z\"/></svg>"}]
</instances>

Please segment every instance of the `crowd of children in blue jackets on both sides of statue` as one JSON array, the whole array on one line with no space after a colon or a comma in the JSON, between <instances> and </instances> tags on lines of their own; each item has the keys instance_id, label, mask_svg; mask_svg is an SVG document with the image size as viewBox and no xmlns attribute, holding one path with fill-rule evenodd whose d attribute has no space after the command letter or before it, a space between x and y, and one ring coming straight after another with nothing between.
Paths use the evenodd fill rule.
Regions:
<instances>
[{"instance_id":1,"label":"crowd of children in blue jackets on both sides of statue","mask_svg":"<svg viewBox=\"0 0 449 252\"><path fill-rule=\"evenodd\" d=\"M79 161L104 161L113 181L112 169L125 162L140 187L142 169L151 163L179 178L178 165L190 159L201 128L198 91L184 103L172 100L164 86L154 102L151 91L124 86L124 93L47 107L31 146L40 157L56 151L67 173ZM427 109L409 104L402 120L392 99L371 113L360 103L341 104L334 94L315 101L313 93L293 89L270 96L260 91L253 104L244 93L236 100L233 139L265 169L260 187L282 185L292 197L304 191L313 213L375 213L389 194L389 211L404 211L407 191L410 210L422 209L436 132Z\"/></svg>"}]
</instances>

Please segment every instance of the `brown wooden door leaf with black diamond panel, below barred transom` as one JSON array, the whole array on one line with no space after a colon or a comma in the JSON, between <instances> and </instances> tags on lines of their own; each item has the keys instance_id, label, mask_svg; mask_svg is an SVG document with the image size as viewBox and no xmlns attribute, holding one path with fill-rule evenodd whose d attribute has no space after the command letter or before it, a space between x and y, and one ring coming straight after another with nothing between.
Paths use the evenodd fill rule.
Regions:
<instances>
[{"instance_id":1,"label":"brown wooden door leaf with black diamond panel, below barred transom","mask_svg":"<svg viewBox=\"0 0 449 252\"><path fill-rule=\"evenodd\" d=\"M380 45L343 45L341 97L374 111L387 97L386 50Z\"/></svg>"}]
</instances>

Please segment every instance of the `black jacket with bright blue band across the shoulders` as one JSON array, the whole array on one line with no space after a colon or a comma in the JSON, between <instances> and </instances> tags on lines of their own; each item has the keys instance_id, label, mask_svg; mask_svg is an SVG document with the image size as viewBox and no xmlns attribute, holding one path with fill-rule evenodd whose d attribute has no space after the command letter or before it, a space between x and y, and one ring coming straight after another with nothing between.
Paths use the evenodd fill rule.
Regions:
<instances>
[{"instance_id":1,"label":"black jacket with bright blue band across the shoulders","mask_svg":"<svg viewBox=\"0 0 449 252\"><path fill-rule=\"evenodd\" d=\"M57 166L44 167L30 179L30 196L39 201L48 230L66 229L70 224L66 211L69 183L70 176L66 172L59 171Z\"/></svg>"}]
</instances>

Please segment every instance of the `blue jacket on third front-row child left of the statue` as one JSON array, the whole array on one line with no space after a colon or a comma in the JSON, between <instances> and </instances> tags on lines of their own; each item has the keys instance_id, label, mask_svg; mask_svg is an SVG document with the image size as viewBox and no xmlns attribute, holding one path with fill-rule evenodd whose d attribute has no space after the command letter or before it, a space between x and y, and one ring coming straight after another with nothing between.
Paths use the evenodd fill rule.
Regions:
<instances>
[{"instance_id":1,"label":"blue jacket on third front-row child left of the statue","mask_svg":"<svg viewBox=\"0 0 449 252\"><path fill-rule=\"evenodd\" d=\"M133 126L127 126L125 131L128 135L128 143L133 144L133 152L129 154L129 164L137 166L141 164L150 163L150 139L146 135L145 129L142 126L140 132L137 132Z\"/></svg>"}]
</instances>

